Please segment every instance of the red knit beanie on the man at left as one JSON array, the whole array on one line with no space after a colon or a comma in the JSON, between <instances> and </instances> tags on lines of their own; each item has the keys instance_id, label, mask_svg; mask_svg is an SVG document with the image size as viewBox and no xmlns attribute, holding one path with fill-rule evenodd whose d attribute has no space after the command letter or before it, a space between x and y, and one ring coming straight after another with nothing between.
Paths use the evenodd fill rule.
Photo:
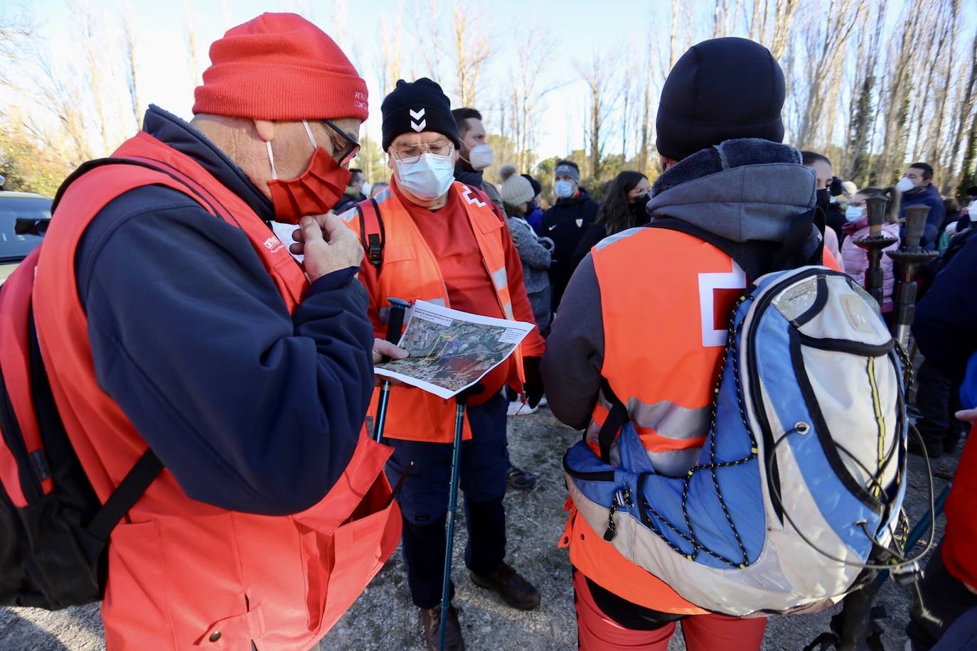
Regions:
<instances>
[{"instance_id":1,"label":"red knit beanie on the man at left","mask_svg":"<svg viewBox=\"0 0 977 651\"><path fill-rule=\"evenodd\" d=\"M335 41L295 14L262 14L210 46L194 113L258 120L366 119L366 82Z\"/></svg>"}]
</instances>

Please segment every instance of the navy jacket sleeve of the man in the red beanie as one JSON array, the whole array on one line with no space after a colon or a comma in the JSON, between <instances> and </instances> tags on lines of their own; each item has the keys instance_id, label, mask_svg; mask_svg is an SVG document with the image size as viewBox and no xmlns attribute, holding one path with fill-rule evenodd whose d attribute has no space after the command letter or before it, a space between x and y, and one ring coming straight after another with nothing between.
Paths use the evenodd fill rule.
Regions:
<instances>
[{"instance_id":1,"label":"navy jacket sleeve of the man in the red beanie","mask_svg":"<svg viewBox=\"0 0 977 651\"><path fill-rule=\"evenodd\" d=\"M243 231L163 187L106 206L75 265L99 384L191 498L283 514L325 495L373 386L356 268L290 315Z\"/></svg>"}]
</instances>

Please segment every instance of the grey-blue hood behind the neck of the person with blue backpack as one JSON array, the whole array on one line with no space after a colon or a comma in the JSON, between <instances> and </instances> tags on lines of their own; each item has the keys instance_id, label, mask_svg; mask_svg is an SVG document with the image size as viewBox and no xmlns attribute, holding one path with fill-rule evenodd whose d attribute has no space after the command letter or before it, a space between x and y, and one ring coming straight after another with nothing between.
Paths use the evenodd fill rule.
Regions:
<instances>
[{"instance_id":1,"label":"grey-blue hood behind the neck of the person with blue backpack","mask_svg":"<svg viewBox=\"0 0 977 651\"><path fill-rule=\"evenodd\" d=\"M658 177L648 213L733 242L782 242L817 199L814 170L800 161L793 147L755 138L702 149Z\"/></svg>"}]
</instances>

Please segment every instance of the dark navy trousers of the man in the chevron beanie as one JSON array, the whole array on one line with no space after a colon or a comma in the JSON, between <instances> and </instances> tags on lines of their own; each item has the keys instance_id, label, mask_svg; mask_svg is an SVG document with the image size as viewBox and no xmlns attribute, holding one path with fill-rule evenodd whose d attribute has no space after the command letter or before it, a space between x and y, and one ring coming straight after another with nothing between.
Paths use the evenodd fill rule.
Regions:
<instances>
[{"instance_id":1,"label":"dark navy trousers of the man in the chevron beanie","mask_svg":"<svg viewBox=\"0 0 977 651\"><path fill-rule=\"evenodd\" d=\"M490 574L505 558L505 496L508 448L505 433L508 401L501 393L483 405L468 409L471 440L461 444L459 485L465 494L468 542L465 565L478 574ZM445 572L448 490L451 476L450 443L387 439L394 454L387 476L404 478L397 501L404 518L404 562L414 605L433 608L441 603ZM450 594L454 595L454 585Z\"/></svg>"}]
</instances>

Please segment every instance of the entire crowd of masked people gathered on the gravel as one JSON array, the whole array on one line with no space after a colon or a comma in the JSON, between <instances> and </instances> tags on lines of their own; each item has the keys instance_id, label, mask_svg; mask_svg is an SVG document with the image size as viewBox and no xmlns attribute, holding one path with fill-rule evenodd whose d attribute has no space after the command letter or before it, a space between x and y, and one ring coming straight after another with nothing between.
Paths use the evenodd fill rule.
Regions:
<instances>
[{"instance_id":1,"label":"entire crowd of masked people gathered on the gravel","mask_svg":"<svg viewBox=\"0 0 977 651\"><path fill-rule=\"evenodd\" d=\"M798 219L797 255L817 251L861 285L867 201L887 199L890 249L905 209L929 208L921 247L943 255L921 273L913 327L925 356L914 451L956 454L969 424L955 415L977 418L960 412L977 393L977 188L957 211L925 162L891 187L838 179L828 157L783 142L784 75L756 43L712 39L676 62L658 102L663 173L623 171L600 202L569 159L554 197L513 165L490 183L483 114L452 108L427 78L386 89L391 179L369 184L350 168L366 86L318 27L265 14L210 52L191 121L150 106L113 155L151 165L82 170L27 263L36 346L95 493L106 502L147 456L162 468L109 540L109 649L317 648L398 542L427 648L442 637L464 648L457 610L442 618L456 403L391 387L383 440L369 435L373 364L406 355L385 341L391 297L536 326L467 397L458 456L465 566L516 609L547 595L506 561L506 490L536 484L513 463L507 417L548 403L600 456L619 402L649 471L691 473L711 431L722 324ZM661 221L685 225L645 227ZM716 241L729 248L705 243ZM882 261L891 326L898 269ZM703 276L732 298L703 299ZM970 476L975 457L968 445ZM952 640L977 629L966 483L913 611L916 651L964 648ZM581 649L665 649L678 623L692 651L760 648L764 617L710 612L630 562L609 542L614 507L602 536L582 500L572 492L560 544Z\"/></svg>"}]
</instances>

